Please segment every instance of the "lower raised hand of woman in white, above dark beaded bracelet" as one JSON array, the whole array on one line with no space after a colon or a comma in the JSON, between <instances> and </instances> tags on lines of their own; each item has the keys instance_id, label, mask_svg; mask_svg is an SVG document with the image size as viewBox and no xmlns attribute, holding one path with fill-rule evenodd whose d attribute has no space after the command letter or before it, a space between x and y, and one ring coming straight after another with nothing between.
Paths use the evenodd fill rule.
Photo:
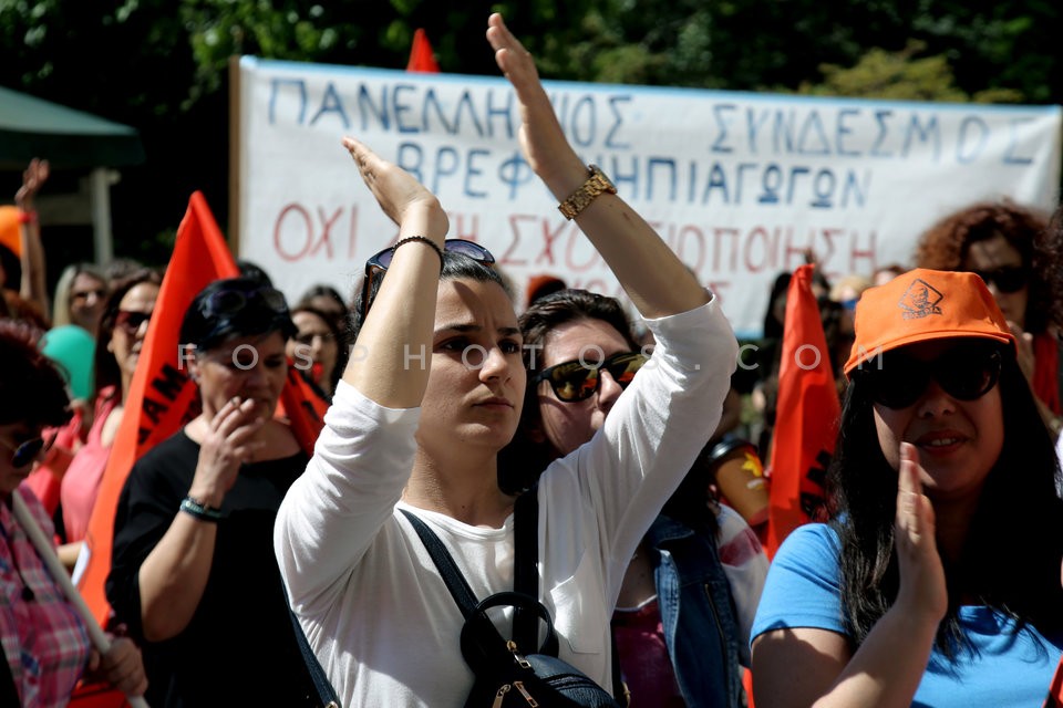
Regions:
<instances>
[{"instance_id":1,"label":"lower raised hand of woman in white, above dark beaded bracelet","mask_svg":"<svg viewBox=\"0 0 1063 708\"><path fill-rule=\"evenodd\" d=\"M431 215L430 230L440 237L446 233L450 221L440 200L413 175L383 159L352 137L343 138L343 147L354 158L362 180L373 192L373 197L376 198L388 218L402 226L411 211L425 209Z\"/></svg>"}]
</instances>

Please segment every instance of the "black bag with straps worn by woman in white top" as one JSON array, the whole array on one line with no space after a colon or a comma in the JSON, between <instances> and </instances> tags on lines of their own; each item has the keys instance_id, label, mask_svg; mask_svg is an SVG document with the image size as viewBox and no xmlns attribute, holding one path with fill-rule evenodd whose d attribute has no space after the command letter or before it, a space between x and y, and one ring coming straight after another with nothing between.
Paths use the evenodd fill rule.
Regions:
<instances>
[{"instance_id":1,"label":"black bag with straps worn by woman in white top","mask_svg":"<svg viewBox=\"0 0 1063 708\"><path fill-rule=\"evenodd\" d=\"M609 693L576 667L557 658L558 643L549 611L538 601L538 499L537 489L523 493L514 517L514 591L476 601L468 582L440 538L415 514L402 512L429 550L440 575L465 617L462 656L476 678L465 708L619 708ZM524 518L522 507L528 518ZM514 607L514 638L504 639L487 611ZM546 639L537 645L538 622L546 625Z\"/></svg>"}]
</instances>

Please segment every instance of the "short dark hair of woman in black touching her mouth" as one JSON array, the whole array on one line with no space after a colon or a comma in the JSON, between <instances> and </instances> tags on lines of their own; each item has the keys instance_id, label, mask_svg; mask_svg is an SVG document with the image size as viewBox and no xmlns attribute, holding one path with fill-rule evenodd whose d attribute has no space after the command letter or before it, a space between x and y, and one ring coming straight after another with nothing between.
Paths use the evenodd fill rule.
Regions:
<instances>
[{"instance_id":1,"label":"short dark hair of woman in black touching her mouth","mask_svg":"<svg viewBox=\"0 0 1063 708\"><path fill-rule=\"evenodd\" d=\"M239 306L216 312L215 303L227 296ZM254 278L229 278L214 281L193 299L180 324L180 343L207 351L234 337L270 332L279 332L287 342L296 331L279 290Z\"/></svg>"}]
</instances>

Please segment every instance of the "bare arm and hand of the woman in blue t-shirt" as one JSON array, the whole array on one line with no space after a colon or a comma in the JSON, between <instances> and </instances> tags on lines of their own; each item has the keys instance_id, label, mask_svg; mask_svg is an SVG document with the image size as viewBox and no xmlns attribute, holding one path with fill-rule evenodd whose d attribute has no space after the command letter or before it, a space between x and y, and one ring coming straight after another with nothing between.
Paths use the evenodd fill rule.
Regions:
<instances>
[{"instance_id":1,"label":"bare arm and hand of the woman in blue t-shirt","mask_svg":"<svg viewBox=\"0 0 1063 708\"><path fill-rule=\"evenodd\" d=\"M933 509L922 494L915 448L901 445L896 545L900 590L855 654L840 634L774 629L753 644L753 690L777 707L907 708L930 659L948 595L935 542Z\"/></svg>"}]
</instances>

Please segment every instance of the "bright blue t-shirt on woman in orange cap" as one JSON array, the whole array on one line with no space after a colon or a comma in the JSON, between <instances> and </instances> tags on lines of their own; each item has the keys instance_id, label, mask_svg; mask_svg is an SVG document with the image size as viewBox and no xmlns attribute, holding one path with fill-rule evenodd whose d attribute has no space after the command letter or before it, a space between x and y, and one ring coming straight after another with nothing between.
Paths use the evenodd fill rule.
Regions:
<instances>
[{"instance_id":1,"label":"bright blue t-shirt on woman in orange cap","mask_svg":"<svg viewBox=\"0 0 1063 708\"><path fill-rule=\"evenodd\" d=\"M767 572L752 638L772 629L811 627L848 635L842 610L837 534L822 523L798 527ZM960 607L960 625L977 653L956 663L935 649L912 706L1041 708L1063 654L1063 636L1047 639L989 607Z\"/></svg>"}]
</instances>

